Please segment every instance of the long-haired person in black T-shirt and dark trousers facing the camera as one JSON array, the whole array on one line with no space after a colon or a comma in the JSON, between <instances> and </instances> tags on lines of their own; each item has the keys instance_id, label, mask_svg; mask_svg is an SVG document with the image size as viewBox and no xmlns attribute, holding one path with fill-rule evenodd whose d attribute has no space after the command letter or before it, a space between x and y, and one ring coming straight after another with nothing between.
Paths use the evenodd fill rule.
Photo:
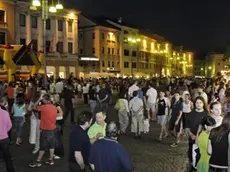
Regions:
<instances>
[{"instance_id":1,"label":"long-haired person in black T-shirt and dark trousers facing the camera","mask_svg":"<svg viewBox=\"0 0 230 172\"><path fill-rule=\"evenodd\" d=\"M208 111L205 107L205 100L203 97L198 96L195 101L194 110L187 115L186 131L189 135L188 158L189 158L189 172L194 171L193 167L193 144L195 144L198 129L201 125L202 118L208 116Z\"/></svg>"}]
</instances>

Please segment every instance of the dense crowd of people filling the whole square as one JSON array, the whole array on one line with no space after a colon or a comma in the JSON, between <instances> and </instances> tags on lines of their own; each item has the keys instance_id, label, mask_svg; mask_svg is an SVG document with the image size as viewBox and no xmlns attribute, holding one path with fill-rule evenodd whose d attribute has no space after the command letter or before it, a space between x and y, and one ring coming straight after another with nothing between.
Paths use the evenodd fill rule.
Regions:
<instances>
[{"instance_id":1,"label":"dense crowd of people filling the whole square","mask_svg":"<svg viewBox=\"0 0 230 172\"><path fill-rule=\"evenodd\" d=\"M27 117L29 142L34 144L32 153L38 153L37 159L29 164L31 168L43 165L46 151L47 165L65 156L62 134L70 124L70 172L131 172L133 165L118 137L129 137L131 125L133 137L141 139L150 132L150 125L159 124L158 140L172 137L173 148L180 146L182 135L188 137L189 171L228 170L230 83L223 77L134 80L70 76L67 80L48 81L46 89L39 77L0 83L0 155L8 172L14 172L10 153L14 141L12 126L16 131L15 144L20 147ZM75 121L76 99L82 97L90 111L81 112ZM112 106L117 110L118 124L109 121Z\"/></svg>"}]
</instances>

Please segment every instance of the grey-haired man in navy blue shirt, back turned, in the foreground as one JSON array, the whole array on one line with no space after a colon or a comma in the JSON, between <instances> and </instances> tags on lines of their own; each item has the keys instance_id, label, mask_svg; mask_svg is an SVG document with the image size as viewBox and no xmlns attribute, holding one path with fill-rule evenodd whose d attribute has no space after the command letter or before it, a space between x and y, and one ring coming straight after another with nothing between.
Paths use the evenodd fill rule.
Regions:
<instances>
[{"instance_id":1,"label":"grey-haired man in navy blue shirt, back turned, in the foreground","mask_svg":"<svg viewBox=\"0 0 230 172\"><path fill-rule=\"evenodd\" d=\"M128 153L117 142L118 128L115 122L106 127L106 137L97 140L91 148L89 163L95 172L132 172Z\"/></svg>"}]
</instances>

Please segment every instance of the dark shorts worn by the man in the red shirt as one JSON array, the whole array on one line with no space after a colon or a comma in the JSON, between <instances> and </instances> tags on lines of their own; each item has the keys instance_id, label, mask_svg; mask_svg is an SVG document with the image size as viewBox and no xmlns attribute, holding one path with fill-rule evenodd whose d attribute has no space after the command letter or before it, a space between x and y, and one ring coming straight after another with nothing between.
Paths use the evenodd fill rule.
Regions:
<instances>
[{"instance_id":1,"label":"dark shorts worn by the man in the red shirt","mask_svg":"<svg viewBox=\"0 0 230 172\"><path fill-rule=\"evenodd\" d=\"M40 150L54 149L56 147L56 137L54 130L41 130Z\"/></svg>"}]
</instances>

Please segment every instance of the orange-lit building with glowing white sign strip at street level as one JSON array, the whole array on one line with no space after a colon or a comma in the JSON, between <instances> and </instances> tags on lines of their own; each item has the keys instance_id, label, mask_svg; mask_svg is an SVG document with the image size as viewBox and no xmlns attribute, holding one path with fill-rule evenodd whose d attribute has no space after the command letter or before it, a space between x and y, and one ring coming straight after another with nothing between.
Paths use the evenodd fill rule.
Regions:
<instances>
[{"instance_id":1,"label":"orange-lit building with glowing white sign strip at street level","mask_svg":"<svg viewBox=\"0 0 230 172\"><path fill-rule=\"evenodd\" d=\"M100 18L79 15L79 64L83 73L120 73L120 30Z\"/></svg>"}]
</instances>

